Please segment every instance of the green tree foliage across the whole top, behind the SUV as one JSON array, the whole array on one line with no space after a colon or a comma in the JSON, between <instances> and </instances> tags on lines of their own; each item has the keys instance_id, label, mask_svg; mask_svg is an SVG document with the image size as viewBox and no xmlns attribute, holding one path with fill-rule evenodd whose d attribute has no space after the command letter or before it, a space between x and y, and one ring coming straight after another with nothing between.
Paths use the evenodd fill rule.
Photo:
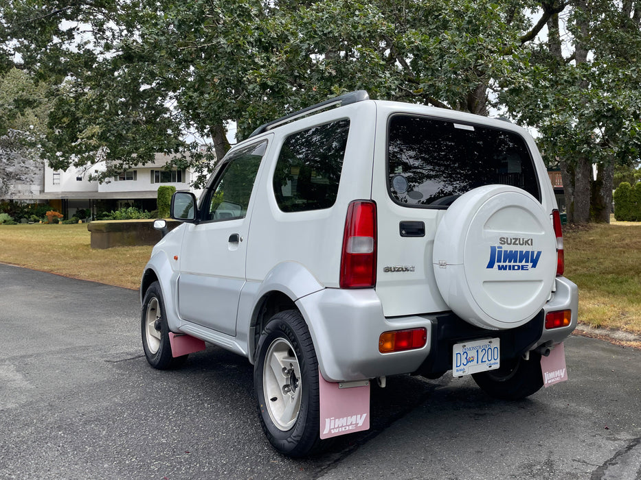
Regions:
<instances>
[{"instance_id":1,"label":"green tree foliage across the whole top, behind the SUV","mask_svg":"<svg viewBox=\"0 0 641 480\"><path fill-rule=\"evenodd\" d=\"M106 178L177 152L202 186L229 125L241 139L359 88L498 108L536 128L548 164L570 171L640 158L638 1L6 0L0 16L6 58L55 86L41 145L56 169L106 157Z\"/></svg>"}]
</instances>

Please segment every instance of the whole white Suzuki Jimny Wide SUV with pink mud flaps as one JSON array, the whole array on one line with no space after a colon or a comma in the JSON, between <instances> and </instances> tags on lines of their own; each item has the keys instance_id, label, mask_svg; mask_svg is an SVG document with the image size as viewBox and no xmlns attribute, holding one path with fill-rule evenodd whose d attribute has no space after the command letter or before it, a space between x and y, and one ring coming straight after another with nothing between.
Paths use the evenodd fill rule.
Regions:
<instances>
[{"instance_id":1,"label":"whole white Suzuki Jimny Wide SUV with pink mud flaps","mask_svg":"<svg viewBox=\"0 0 641 480\"><path fill-rule=\"evenodd\" d=\"M142 278L145 355L247 357L286 455L367 429L389 375L471 374L517 399L565 374L541 362L577 289L546 167L509 122L349 93L262 125L171 208L183 224Z\"/></svg>"}]
</instances>

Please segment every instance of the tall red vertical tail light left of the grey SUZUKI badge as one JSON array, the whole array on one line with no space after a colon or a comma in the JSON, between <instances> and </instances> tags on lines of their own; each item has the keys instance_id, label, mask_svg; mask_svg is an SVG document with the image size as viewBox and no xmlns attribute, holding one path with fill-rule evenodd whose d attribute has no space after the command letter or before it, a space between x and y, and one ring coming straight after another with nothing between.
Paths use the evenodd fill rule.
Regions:
<instances>
[{"instance_id":1,"label":"tall red vertical tail light left of the grey SUZUKI badge","mask_svg":"<svg viewBox=\"0 0 641 480\"><path fill-rule=\"evenodd\" d=\"M348 207L339 281L341 288L367 288L376 285L374 202L356 200Z\"/></svg>"}]
</instances>

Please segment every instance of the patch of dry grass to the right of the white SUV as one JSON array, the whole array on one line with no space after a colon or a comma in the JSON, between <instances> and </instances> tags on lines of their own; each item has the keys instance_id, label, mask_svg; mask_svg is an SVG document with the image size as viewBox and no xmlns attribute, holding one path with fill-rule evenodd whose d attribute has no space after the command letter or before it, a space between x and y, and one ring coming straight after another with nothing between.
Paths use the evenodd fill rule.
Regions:
<instances>
[{"instance_id":1,"label":"patch of dry grass to the right of the white SUV","mask_svg":"<svg viewBox=\"0 0 641 480\"><path fill-rule=\"evenodd\" d=\"M641 334L641 224L571 229L564 243L565 276L578 285L579 320Z\"/></svg>"}]
</instances>

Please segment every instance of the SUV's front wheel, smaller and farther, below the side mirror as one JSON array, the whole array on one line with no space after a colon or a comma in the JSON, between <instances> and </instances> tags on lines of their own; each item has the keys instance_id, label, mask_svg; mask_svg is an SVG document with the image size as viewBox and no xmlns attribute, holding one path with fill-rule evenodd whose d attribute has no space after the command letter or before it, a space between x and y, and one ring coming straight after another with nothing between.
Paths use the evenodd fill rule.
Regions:
<instances>
[{"instance_id":1,"label":"SUV's front wheel, smaller and farther, below the side mirror","mask_svg":"<svg viewBox=\"0 0 641 480\"><path fill-rule=\"evenodd\" d=\"M152 283L145 293L140 331L145 357L153 368L168 370L183 365L187 360L188 355L172 357L165 302L158 282Z\"/></svg>"}]
</instances>

